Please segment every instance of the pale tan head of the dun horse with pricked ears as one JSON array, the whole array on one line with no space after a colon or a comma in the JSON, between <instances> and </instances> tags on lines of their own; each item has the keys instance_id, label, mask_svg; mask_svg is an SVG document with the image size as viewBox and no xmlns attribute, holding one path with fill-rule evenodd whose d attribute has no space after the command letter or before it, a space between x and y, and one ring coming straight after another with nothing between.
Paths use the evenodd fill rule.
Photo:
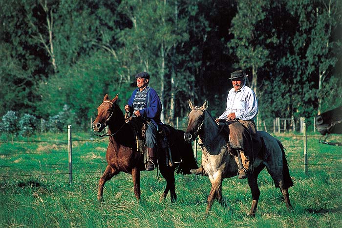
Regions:
<instances>
[{"instance_id":1,"label":"pale tan head of the dun horse with pricked ears","mask_svg":"<svg viewBox=\"0 0 342 228\"><path fill-rule=\"evenodd\" d=\"M208 108L208 101L205 100L201 107L193 105L189 99L189 107L192 109L188 115L188 127L184 133L184 140L192 142L201 130L205 118L205 111Z\"/></svg>"}]
</instances>

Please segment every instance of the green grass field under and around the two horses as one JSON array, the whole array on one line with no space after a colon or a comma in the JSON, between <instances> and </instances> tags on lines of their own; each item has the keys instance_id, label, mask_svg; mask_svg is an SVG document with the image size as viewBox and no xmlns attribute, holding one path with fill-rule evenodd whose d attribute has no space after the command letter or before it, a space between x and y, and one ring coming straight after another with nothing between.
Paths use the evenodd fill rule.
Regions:
<instances>
[{"instance_id":1,"label":"green grass field under and around the two horses","mask_svg":"<svg viewBox=\"0 0 342 228\"><path fill-rule=\"evenodd\" d=\"M308 135L308 173L304 174L300 134L275 135L285 145L295 186L289 189L294 209L282 202L267 171L255 218L247 216L251 194L247 180L225 179L222 194L205 214L211 189L208 177L176 175L178 200L159 203L166 182L157 171L141 172L142 200L136 202L131 176L120 173L106 183L105 202L96 199L106 168L108 138L73 133L73 182L68 183L67 133L30 138L0 136L0 227L4 228L338 228L342 224L342 148ZM341 136L336 140L342 141ZM199 149L199 147L198 147ZM200 162L198 151L198 161Z\"/></svg>"}]
</instances>

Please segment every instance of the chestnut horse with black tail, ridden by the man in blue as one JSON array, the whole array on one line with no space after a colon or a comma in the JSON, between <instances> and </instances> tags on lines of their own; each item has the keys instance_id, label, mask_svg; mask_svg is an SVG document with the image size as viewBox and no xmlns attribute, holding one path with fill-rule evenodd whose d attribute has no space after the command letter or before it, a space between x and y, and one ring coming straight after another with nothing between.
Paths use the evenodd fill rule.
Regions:
<instances>
[{"instance_id":1,"label":"chestnut horse with black tail, ridden by the man in blue","mask_svg":"<svg viewBox=\"0 0 342 228\"><path fill-rule=\"evenodd\" d=\"M145 170L143 163L144 154L137 151L137 144L134 137L134 130L125 122L124 114L116 104L118 95L109 99L105 95L102 104L97 108L98 114L93 122L95 132L101 132L108 126L109 144L106 152L107 168L99 181L99 190L97 199L103 201L103 188L105 183L120 171L130 173L133 178L134 194L137 200L140 200L140 171ZM137 117L139 118L139 117ZM169 125L168 125L169 126ZM166 188L160 197L160 201L165 199L170 191L171 202L176 201L174 171L181 174L190 174L191 169L197 169L197 162L194 158L191 143L184 141L184 131L175 130L171 126L171 137L174 145L170 146L172 150L178 150L182 162L169 166L166 163L165 152L158 150L158 164L162 176L166 180Z\"/></svg>"}]
</instances>

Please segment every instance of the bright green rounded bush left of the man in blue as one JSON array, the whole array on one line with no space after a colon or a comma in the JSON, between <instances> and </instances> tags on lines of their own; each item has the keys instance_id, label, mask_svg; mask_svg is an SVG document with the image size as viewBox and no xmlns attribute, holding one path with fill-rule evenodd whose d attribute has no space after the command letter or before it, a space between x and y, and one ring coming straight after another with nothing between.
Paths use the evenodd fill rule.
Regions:
<instances>
[{"instance_id":1,"label":"bright green rounded bush left of the man in blue","mask_svg":"<svg viewBox=\"0 0 342 228\"><path fill-rule=\"evenodd\" d=\"M111 97L119 94L119 104L126 104L132 88L123 83L120 74L121 68L113 57L97 52L41 85L43 99L38 112L42 116L53 116L67 105L73 115L68 123L61 123L64 128L67 124L85 126L97 115L96 108L106 94Z\"/></svg>"}]
</instances>

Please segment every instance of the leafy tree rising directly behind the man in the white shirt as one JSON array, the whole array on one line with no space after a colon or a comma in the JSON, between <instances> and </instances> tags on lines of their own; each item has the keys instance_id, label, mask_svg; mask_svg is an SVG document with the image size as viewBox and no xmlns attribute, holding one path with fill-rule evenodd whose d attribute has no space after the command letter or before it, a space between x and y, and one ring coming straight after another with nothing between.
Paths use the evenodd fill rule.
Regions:
<instances>
[{"instance_id":1,"label":"leafy tree rising directly behind the man in the white shirt","mask_svg":"<svg viewBox=\"0 0 342 228\"><path fill-rule=\"evenodd\" d=\"M279 42L272 23L277 7L278 3L272 0L240 0L230 28L234 38L228 47L238 58L237 65L252 73L251 87L256 94L258 70L271 61L270 49Z\"/></svg>"}]
</instances>

